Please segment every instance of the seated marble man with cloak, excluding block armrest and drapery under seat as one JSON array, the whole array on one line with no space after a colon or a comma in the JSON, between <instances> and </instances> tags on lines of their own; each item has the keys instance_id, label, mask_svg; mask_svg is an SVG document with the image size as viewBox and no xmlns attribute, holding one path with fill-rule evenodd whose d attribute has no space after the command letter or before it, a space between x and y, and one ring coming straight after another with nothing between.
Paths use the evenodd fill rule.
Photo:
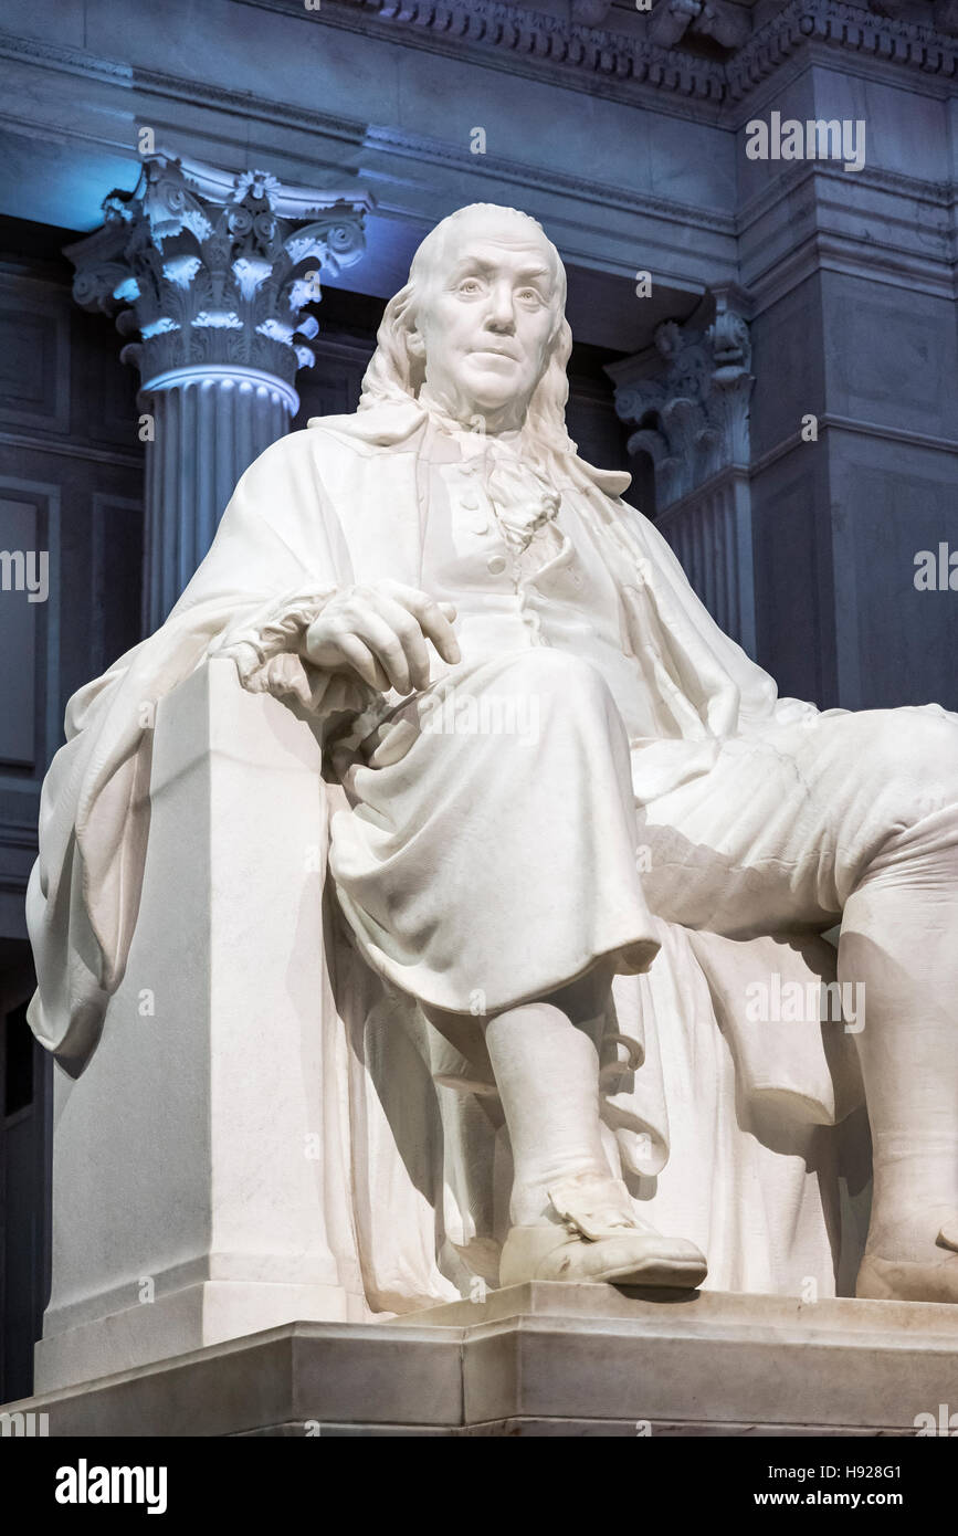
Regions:
<instances>
[{"instance_id":1,"label":"seated marble man with cloak, excluding block armrest and drapery under seat","mask_svg":"<svg viewBox=\"0 0 958 1536\"><path fill-rule=\"evenodd\" d=\"M867 994L857 1293L958 1301L958 719L777 697L619 499L628 476L577 456L563 306L534 220L444 220L358 413L263 455L163 630L71 702L29 892L31 1021L81 1069L135 923L135 705L229 656L321 733L359 962L491 1074L513 1166L500 1284L694 1287L702 1247L749 1241L746 1180L737 1236L645 1220L600 1092L616 1000L676 966L672 925L731 948L841 922L838 980ZM726 1104L702 1127L717 1158L732 1121Z\"/></svg>"}]
</instances>

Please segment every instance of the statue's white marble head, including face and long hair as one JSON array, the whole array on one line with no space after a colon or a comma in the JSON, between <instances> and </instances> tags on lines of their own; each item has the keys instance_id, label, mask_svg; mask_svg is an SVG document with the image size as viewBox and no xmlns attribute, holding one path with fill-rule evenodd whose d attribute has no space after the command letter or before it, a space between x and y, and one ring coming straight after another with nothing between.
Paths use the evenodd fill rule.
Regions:
<instances>
[{"instance_id":1,"label":"statue's white marble head, including face and long hair","mask_svg":"<svg viewBox=\"0 0 958 1536\"><path fill-rule=\"evenodd\" d=\"M385 307L361 409L418 396L490 432L528 421L568 450L565 269L528 214L473 203L425 237Z\"/></svg>"}]
</instances>

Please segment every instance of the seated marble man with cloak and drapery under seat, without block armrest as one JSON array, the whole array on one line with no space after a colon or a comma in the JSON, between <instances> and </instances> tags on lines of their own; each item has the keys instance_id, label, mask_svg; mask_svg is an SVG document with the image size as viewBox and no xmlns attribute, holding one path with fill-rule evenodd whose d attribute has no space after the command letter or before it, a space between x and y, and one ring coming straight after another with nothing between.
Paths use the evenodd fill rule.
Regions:
<instances>
[{"instance_id":1,"label":"seated marble man with cloak and drapery under seat, without block armrest","mask_svg":"<svg viewBox=\"0 0 958 1536\"><path fill-rule=\"evenodd\" d=\"M471 1275L834 1293L863 1097L857 1293L958 1301L958 719L777 696L577 455L563 310L533 218L445 218L359 410L252 465L163 628L71 700L31 1025L84 1071L149 856L144 700L227 657L322 743L316 943L362 1041L330 1198L372 1310ZM749 1017L766 983L857 1006Z\"/></svg>"}]
</instances>

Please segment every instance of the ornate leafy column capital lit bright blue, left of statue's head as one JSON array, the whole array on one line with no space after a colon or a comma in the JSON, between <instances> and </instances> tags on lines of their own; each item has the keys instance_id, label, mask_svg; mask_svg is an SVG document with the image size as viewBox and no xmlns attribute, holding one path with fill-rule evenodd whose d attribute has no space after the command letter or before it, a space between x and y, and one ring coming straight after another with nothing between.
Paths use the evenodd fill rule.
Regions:
<instances>
[{"instance_id":1,"label":"ornate leafy column capital lit bright blue, left of statue's head","mask_svg":"<svg viewBox=\"0 0 958 1536\"><path fill-rule=\"evenodd\" d=\"M104 223L66 247L74 296L117 315L121 352L143 381L204 364L252 369L292 386L315 361L302 309L365 250L365 192L287 186L164 151L146 155L132 192L111 192Z\"/></svg>"}]
</instances>

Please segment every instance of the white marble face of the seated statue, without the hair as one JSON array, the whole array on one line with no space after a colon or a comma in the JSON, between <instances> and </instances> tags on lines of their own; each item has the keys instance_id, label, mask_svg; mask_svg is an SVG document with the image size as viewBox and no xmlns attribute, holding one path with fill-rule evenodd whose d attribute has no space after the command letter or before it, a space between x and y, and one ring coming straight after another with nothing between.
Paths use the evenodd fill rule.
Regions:
<instances>
[{"instance_id":1,"label":"white marble face of the seated statue, without the hair","mask_svg":"<svg viewBox=\"0 0 958 1536\"><path fill-rule=\"evenodd\" d=\"M547 241L504 215L453 226L427 276L415 343L425 381L459 419L519 425L548 364L557 321Z\"/></svg>"}]
</instances>

